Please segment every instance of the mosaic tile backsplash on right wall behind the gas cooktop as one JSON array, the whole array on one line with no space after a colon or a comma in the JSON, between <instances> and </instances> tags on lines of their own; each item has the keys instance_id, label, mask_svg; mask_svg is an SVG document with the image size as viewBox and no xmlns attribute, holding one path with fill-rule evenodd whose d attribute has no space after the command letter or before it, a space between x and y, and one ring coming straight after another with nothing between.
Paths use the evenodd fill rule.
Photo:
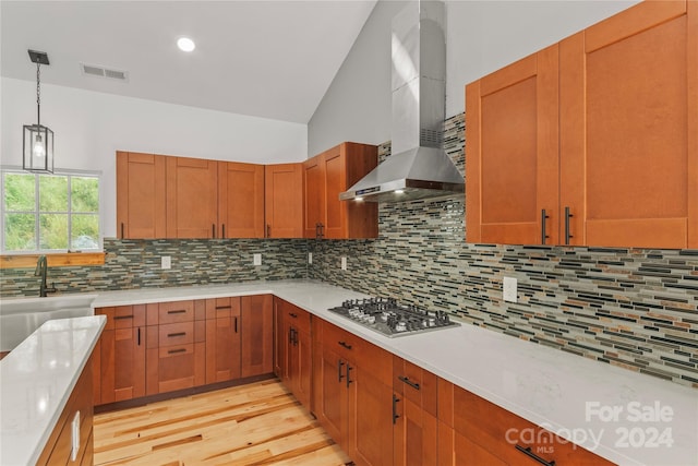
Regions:
<instances>
[{"instance_id":1,"label":"mosaic tile backsplash on right wall behind the gas cooktop","mask_svg":"<svg viewBox=\"0 0 698 466\"><path fill-rule=\"evenodd\" d=\"M446 123L461 171L462 118ZM698 250L468 244L462 196L381 204L377 240L309 242L310 277L698 389Z\"/></svg>"}]
</instances>

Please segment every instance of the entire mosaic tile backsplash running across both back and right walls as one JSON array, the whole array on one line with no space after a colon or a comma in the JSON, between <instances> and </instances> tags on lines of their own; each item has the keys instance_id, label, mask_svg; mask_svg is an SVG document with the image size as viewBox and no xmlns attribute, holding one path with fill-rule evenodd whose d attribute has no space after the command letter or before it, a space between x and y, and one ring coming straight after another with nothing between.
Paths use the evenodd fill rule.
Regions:
<instances>
[{"instance_id":1,"label":"entire mosaic tile backsplash running across both back and right walls","mask_svg":"<svg viewBox=\"0 0 698 466\"><path fill-rule=\"evenodd\" d=\"M462 171L464 116L445 129ZM381 204L375 240L106 239L104 266L52 267L49 283L79 292L309 277L698 389L698 250L468 244L462 196ZM504 276L518 279L517 303L502 300ZM3 297L38 287L34 268L0 271Z\"/></svg>"}]
</instances>

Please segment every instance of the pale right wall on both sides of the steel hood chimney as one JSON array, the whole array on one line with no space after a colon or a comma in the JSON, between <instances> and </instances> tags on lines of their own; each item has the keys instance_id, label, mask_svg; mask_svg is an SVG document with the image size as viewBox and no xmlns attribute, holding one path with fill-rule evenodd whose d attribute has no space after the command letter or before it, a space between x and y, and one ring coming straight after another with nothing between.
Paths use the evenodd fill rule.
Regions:
<instances>
[{"instance_id":1,"label":"pale right wall on both sides of the steel hood chimney","mask_svg":"<svg viewBox=\"0 0 698 466\"><path fill-rule=\"evenodd\" d=\"M465 85L624 10L637 0L446 2L446 117ZM342 141L390 140L390 22L405 1L380 0L308 124L309 156Z\"/></svg>"}]
</instances>

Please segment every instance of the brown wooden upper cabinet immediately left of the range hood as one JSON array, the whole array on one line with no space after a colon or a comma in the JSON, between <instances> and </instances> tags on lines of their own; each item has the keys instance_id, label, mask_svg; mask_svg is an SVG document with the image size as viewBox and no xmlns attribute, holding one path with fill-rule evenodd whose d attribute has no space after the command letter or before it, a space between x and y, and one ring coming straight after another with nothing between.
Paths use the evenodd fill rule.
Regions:
<instances>
[{"instance_id":1,"label":"brown wooden upper cabinet immediately left of the range hood","mask_svg":"<svg viewBox=\"0 0 698 466\"><path fill-rule=\"evenodd\" d=\"M303 163L303 235L305 238L350 239L378 236L378 206L339 201L346 191L377 166L377 147L341 143Z\"/></svg>"}]
</instances>

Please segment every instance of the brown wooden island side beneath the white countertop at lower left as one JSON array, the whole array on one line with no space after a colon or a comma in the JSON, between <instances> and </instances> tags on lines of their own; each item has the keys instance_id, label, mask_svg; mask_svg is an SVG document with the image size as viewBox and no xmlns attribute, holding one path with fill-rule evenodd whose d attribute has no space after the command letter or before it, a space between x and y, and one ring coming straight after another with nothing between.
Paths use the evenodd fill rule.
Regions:
<instances>
[{"instance_id":1,"label":"brown wooden island side beneath the white countertop at lower left","mask_svg":"<svg viewBox=\"0 0 698 466\"><path fill-rule=\"evenodd\" d=\"M80 375L65 408L60 414L56 428L49 435L46 446L36 462L37 465L92 465L93 464L93 373L87 363ZM72 459L72 422L80 413L80 447Z\"/></svg>"}]
</instances>

